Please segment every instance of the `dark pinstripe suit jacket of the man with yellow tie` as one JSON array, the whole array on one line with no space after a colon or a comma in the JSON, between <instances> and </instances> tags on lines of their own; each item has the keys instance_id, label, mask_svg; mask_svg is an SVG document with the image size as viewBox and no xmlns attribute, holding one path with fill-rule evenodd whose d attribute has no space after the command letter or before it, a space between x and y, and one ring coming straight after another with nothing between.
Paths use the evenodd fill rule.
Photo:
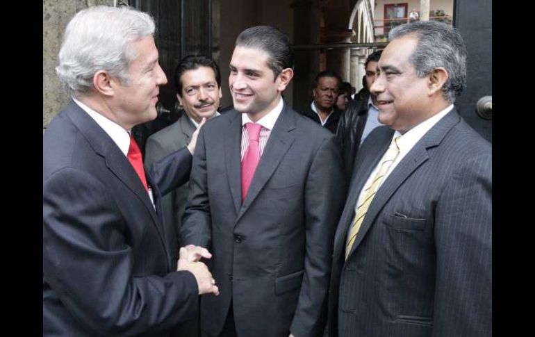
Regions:
<instances>
[{"instance_id":1,"label":"dark pinstripe suit jacket of the man with yellow tie","mask_svg":"<svg viewBox=\"0 0 535 337\"><path fill-rule=\"evenodd\" d=\"M356 158L334 242L329 336L491 336L491 145L455 109L386 178L344 261L356 199L393 132L376 128Z\"/></svg>"}]
</instances>

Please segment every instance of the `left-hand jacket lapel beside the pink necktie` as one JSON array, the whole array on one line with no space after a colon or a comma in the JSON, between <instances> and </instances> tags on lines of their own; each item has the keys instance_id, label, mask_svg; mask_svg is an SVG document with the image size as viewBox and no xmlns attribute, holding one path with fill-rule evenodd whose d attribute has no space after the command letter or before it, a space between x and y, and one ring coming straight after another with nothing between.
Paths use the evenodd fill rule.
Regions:
<instances>
[{"instance_id":1,"label":"left-hand jacket lapel beside the pink necktie","mask_svg":"<svg viewBox=\"0 0 535 337\"><path fill-rule=\"evenodd\" d=\"M227 165L227 176L231 190L236 213L240 211L242 204L241 190L241 137L242 118L241 113L236 112L236 116L231 118L229 129L224 136L225 163Z\"/></svg>"}]
</instances>

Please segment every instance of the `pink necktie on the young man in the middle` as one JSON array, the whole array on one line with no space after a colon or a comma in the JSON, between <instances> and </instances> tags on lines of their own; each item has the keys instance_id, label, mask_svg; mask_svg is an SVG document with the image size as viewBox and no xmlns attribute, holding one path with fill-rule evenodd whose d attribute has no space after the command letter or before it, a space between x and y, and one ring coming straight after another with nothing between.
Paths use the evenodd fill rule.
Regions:
<instances>
[{"instance_id":1,"label":"pink necktie on the young man in the middle","mask_svg":"<svg viewBox=\"0 0 535 337\"><path fill-rule=\"evenodd\" d=\"M260 161L260 131L262 126L256 123L245 123L247 135L249 135L249 146L245 150L242 160L242 202L247 196L249 185L253 180L254 171Z\"/></svg>"}]
</instances>

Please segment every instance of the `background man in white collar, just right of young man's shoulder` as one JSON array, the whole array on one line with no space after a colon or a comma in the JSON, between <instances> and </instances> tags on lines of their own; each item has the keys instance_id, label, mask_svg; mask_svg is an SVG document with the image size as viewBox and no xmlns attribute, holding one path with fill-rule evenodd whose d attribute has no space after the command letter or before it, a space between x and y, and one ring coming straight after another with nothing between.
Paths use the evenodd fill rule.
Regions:
<instances>
[{"instance_id":1,"label":"background man in white collar, just right of young man's shoulder","mask_svg":"<svg viewBox=\"0 0 535 337\"><path fill-rule=\"evenodd\" d=\"M342 111L336 108L341 83L342 79L336 72L330 70L320 72L314 79L312 90L314 100L311 108L304 112L306 117L329 129L332 133L336 133L338 121L342 115Z\"/></svg>"}]
</instances>

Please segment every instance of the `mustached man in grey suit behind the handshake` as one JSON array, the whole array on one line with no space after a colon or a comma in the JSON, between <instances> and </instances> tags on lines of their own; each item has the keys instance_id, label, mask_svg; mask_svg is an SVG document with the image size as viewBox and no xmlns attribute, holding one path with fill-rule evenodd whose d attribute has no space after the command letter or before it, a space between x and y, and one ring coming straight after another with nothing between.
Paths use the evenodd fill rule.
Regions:
<instances>
[{"instance_id":1,"label":"mustached man in grey suit behind the handshake","mask_svg":"<svg viewBox=\"0 0 535 337\"><path fill-rule=\"evenodd\" d=\"M184 114L147 140L145 166L178 149L186 147L203 118L220 115L221 75L217 64L205 56L190 55L181 60L174 71L176 98ZM188 181L163 197L163 217L172 262L179 257L179 231L188 195Z\"/></svg>"}]
</instances>

